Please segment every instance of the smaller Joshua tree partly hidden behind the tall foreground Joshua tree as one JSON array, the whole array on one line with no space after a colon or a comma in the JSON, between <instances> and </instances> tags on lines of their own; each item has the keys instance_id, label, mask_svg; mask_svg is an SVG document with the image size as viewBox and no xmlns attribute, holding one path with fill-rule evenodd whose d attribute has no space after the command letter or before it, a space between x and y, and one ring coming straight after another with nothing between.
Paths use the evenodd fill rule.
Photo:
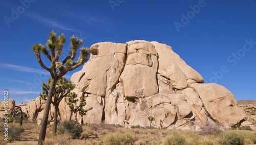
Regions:
<instances>
[{"instance_id":1,"label":"smaller Joshua tree partly hidden behind the tall foreground Joshua tree","mask_svg":"<svg viewBox=\"0 0 256 145\"><path fill-rule=\"evenodd\" d=\"M46 83L42 83L42 93L40 93L40 98L43 100L47 100L47 95L49 92L49 84L51 84L51 80L48 79ZM57 119L59 112L59 103L66 96L71 95L70 91L75 88L75 84L72 84L71 81L66 80L66 78L61 77L57 80L55 85L55 90L53 93L52 104L54 106L54 119L53 119L53 133L56 135L57 133Z\"/></svg>"}]
</instances>

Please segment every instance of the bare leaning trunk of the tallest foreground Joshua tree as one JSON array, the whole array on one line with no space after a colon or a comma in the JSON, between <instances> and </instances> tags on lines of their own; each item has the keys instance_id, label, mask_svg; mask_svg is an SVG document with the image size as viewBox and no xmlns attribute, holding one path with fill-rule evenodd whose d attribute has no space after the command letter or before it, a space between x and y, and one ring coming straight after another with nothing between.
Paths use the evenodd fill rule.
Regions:
<instances>
[{"instance_id":1,"label":"bare leaning trunk of the tallest foreground Joshua tree","mask_svg":"<svg viewBox=\"0 0 256 145\"><path fill-rule=\"evenodd\" d=\"M51 79L51 84L50 84L47 101L46 101L46 108L44 109L45 112L44 112L44 115L42 116L41 128L40 128L37 145L42 145L42 141L44 141L46 138L47 120L50 112L51 101L52 101L55 84L56 84L56 81L54 79Z\"/></svg>"}]
</instances>

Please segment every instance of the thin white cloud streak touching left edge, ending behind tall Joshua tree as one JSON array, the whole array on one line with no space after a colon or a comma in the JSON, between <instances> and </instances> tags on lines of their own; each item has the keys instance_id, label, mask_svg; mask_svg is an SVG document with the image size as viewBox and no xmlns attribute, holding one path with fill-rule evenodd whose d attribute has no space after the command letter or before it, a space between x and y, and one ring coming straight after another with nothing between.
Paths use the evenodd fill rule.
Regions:
<instances>
[{"instance_id":1,"label":"thin white cloud streak touching left edge, ending behind tall Joshua tree","mask_svg":"<svg viewBox=\"0 0 256 145\"><path fill-rule=\"evenodd\" d=\"M26 66L13 65L13 64L9 64L9 63L0 63L0 68L24 71L24 72L32 72L32 73L36 73L36 74L42 74L42 73L48 74L49 73L48 71L43 71L40 69L30 68L30 67L26 67Z\"/></svg>"}]
</instances>

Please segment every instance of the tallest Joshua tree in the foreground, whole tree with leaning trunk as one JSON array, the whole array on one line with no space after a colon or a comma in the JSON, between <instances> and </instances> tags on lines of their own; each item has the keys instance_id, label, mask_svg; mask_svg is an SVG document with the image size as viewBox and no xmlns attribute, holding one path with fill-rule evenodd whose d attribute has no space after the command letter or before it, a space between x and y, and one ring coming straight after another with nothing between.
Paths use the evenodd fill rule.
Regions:
<instances>
[{"instance_id":1,"label":"tallest Joshua tree in the foreground, whole tree with leaning trunk","mask_svg":"<svg viewBox=\"0 0 256 145\"><path fill-rule=\"evenodd\" d=\"M56 36L54 31L49 33L49 39L46 45L41 45L40 43L32 45L32 50L36 56L37 62L40 66L51 74L51 81L49 84L49 91L47 95L46 108L44 111L44 115L42 117L42 124L40 128L38 145L42 145L42 141L45 140L46 137L46 128L47 128L47 120L51 107L52 96L54 93L55 85L58 79L67 74L68 71L74 70L84 62L88 60L87 56L90 54L90 50L82 47L80 49L80 56L77 61L73 61L76 57L76 53L80 45L82 44L82 40L74 37L74 35L70 38L70 52L69 55L62 61L59 60L59 57L62 54L62 48L64 43L66 42L66 38L64 34ZM46 66L41 59L41 54L46 56L51 64L50 66Z\"/></svg>"}]
</instances>

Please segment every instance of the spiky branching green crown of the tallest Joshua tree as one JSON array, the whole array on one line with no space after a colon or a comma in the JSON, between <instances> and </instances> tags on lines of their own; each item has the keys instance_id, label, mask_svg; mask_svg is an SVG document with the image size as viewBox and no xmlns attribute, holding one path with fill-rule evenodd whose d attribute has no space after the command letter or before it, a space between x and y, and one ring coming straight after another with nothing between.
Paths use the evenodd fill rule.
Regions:
<instances>
[{"instance_id":1,"label":"spiky branching green crown of the tallest Joshua tree","mask_svg":"<svg viewBox=\"0 0 256 145\"><path fill-rule=\"evenodd\" d=\"M56 80L64 76L68 71L74 70L75 68L86 62L88 60L87 56L90 54L90 50L82 46L82 48L80 49L80 56L78 60L74 61L77 50L82 44L82 39L78 39L73 35L70 38L71 45L69 55L66 56L66 58L62 61L59 61L65 42L66 38L64 34L60 34L57 37L56 33L52 31L49 33L49 39L47 40L46 45L42 45L40 43L32 45L32 50L36 55L38 63L41 65L42 68L49 71L51 77L55 78ZM50 60L50 66L47 67L42 62L41 54L43 54ZM57 69L59 69L59 71L57 71Z\"/></svg>"}]
</instances>

